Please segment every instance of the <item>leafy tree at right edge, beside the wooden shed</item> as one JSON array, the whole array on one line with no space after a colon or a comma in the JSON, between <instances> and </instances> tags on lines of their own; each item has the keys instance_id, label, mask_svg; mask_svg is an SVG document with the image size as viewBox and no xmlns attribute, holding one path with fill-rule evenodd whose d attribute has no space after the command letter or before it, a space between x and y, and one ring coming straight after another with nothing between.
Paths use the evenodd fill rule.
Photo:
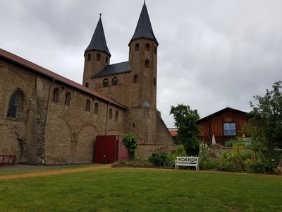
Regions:
<instances>
[{"instance_id":1,"label":"leafy tree at right edge, beside the wooden shed","mask_svg":"<svg viewBox=\"0 0 282 212\"><path fill-rule=\"evenodd\" d=\"M252 137L255 142L268 148L282 148L282 81L272 85L273 90L266 89L262 97L255 95L257 104L250 102L249 124L252 125Z\"/></svg>"}]
</instances>

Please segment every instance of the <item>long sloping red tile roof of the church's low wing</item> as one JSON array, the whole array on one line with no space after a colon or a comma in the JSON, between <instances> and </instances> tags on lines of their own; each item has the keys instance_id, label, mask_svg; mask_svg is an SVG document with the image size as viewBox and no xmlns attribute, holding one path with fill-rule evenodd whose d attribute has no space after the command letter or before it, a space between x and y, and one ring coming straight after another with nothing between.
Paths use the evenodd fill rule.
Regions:
<instances>
[{"instance_id":1,"label":"long sloping red tile roof of the church's low wing","mask_svg":"<svg viewBox=\"0 0 282 212\"><path fill-rule=\"evenodd\" d=\"M58 73L54 73L53 71L50 71L48 69L44 69L42 66L38 66L37 64L34 64L31 61L23 59L22 57L18 57L16 54L12 54L11 52L7 52L6 50L1 49L1 48L0 48L0 57L4 57L4 58L6 58L10 61L16 62L16 64L20 64L22 66L25 66L28 69L31 69L31 71L41 73L42 75L48 76L49 78L55 78L56 81L60 81L61 83L65 83L66 85L71 86L72 88L75 88L76 90L80 90L80 91L87 93L89 95L94 95L94 97L96 97L96 98L99 98L101 100L109 102L109 103L116 105L118 107L121 107L123 109L128 108L128 107L125 107L124 105L121 105L120 103L116 102L115 100L113 100L111 98L108 98L104 95L101 95L94 90L90 90L89 88L86 88L85 86L82 86L79 83L75 83L74 81L71 81L68 78L65 78L65 77L59 75Z\"/></svg>"}]
</instances>

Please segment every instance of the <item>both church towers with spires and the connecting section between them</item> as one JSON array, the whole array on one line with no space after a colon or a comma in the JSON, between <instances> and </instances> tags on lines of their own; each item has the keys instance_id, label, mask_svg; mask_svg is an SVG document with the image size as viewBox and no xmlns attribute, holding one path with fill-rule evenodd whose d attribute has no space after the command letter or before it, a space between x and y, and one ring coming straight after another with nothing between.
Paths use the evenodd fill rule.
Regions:
<instances>
[{"instance_id":1,"label":"both church towers with spires and the connecting section between them","mask_svg":"<svg viewBox=\"0 0 282 212\"><path fill-rule=\"evenodd\" d=\"M90 45L85 49L83 85L127 107L156 108L158 45L144 3L128 44L129 61L110 64L111 53L100 16Z\"/></svg>"}]
</instances>

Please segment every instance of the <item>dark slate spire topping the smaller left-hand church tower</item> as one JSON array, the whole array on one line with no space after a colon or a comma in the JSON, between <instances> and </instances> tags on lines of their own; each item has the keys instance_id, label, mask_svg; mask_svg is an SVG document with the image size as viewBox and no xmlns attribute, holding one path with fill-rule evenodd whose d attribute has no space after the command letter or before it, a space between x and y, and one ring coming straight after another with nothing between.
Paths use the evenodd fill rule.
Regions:
<instances>
[{"instance_id":1,"label":"dark slate spire topping the smaller left-hand church tower","mask_svg":"<svg viewBox=\"0 0 282 212\"><path fill-rule=\"evenodd\" d=\"M92 40L90 42L90 45L87 47L87 49L85 49L85 53L90 52L92 50L106 52L106 54L109 54L109 56L111 56L111 53L106 45L106 38L101 20L101 13L100 13L99 21L97 23L97 27L92 36Z\"/></svg>"}]
</instances>

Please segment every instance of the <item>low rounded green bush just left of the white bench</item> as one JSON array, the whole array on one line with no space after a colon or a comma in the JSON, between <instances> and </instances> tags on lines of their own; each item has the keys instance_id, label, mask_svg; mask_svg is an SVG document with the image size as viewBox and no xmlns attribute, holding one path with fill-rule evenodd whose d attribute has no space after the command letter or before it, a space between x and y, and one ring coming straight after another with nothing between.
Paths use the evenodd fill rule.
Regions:
<instances>
[{"instance_id":1,"label":"low rounded green bush just left of the white bench","mask_svg":"<svg viewBox=\"0 0 282 212\"><path fill-rule=\"evenodd\" d=\"M174 158L168 153L154 152L149 157L149 162L158 167L171 167L174 165Z\"/></svg>"}]
</instances>

